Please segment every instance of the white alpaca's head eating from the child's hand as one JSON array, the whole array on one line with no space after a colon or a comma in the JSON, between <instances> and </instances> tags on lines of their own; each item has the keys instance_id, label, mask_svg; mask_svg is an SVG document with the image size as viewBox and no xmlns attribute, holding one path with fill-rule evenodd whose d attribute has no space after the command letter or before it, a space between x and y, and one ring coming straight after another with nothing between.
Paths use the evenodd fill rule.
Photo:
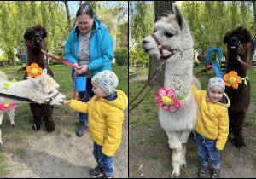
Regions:
<instances>
[{"instance_id":1,"label":"white alpaca's head eating from the child's hand","mask_svg":"<svg viewBox=\"0 0 256 179\"><path fill-rule=\"evenodd\" d=\"M27 79L32 82L32 90L29 99L34 102L38 102L40 104L47 103L51 97L59 92L57 89L60 85L47 74L47 69L44 69L38 78L27 77ZM50 105L61 105L63 104L63 101L65 101L65 98L65 95L60 93L55 96L55 98L50 102Z\"/></svg>"}]
</instances>

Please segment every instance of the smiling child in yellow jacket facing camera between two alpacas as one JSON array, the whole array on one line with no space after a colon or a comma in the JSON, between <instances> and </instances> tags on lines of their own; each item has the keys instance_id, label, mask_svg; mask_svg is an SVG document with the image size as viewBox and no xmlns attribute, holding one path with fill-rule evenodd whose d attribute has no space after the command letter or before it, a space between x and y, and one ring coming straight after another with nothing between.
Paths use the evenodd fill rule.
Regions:
<instances>
[{"instance_id":1,"label":"smiling child in yellow jacket facing camera between two alpacas","mask_svg":"<svg viewBox=\"0 0 256 179\"><path fill-rule=\"evenodd\" d=\"M199 177L207 175L208 158L212 161L212 178L218 178L220 162L218 150L223 150L229 135L230 99L224 93L225 83L222 78L209 80L208 89L197 90L192 85L198 114L195 123L197 153L201 161Z\"/></svg>"}]
</instances>

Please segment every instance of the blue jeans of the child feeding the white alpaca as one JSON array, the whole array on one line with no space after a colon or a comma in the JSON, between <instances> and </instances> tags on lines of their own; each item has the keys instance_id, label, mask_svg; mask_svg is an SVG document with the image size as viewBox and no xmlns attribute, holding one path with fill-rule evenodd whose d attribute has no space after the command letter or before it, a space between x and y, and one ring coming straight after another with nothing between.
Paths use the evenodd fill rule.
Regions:
<instances>
[{"instance_id":1,"label":"blue jeans of the child feeding the white alpaca","mask_svg":"<svg viewBox=\"0 0 256 179\"><path fill-rule=\"evenodd\" d=\"M102 167L102 169L105 170L105 173L107 176L113 176L114 166L113 166L113 156L109 157L102 153L102 146L99 146L96 144L95 141L93 141L93 156L96 159L96 162L98 165Z\"/></svg>"}]
</instances>

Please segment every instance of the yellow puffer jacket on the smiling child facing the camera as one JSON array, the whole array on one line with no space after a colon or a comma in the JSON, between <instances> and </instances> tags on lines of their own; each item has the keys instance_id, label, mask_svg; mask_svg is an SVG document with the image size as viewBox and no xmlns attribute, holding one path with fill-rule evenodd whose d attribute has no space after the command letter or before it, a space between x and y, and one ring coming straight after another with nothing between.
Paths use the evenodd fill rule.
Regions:
<instances>
[{"instance_id":1,"label":"yellow puffer jacket on the smiling child facing the camera","mask_svg":"<svg viewBox=\"0 0 256 179\"><path fill-rule=\"evenodd\" d=\"M198 104L198 114L195 123L195 131L207 139L217 140L216 148L223 150L229 135L229 114L230 99L224 93L227 103L213 103L207 101L207 91L197 90L194 85L193 90L195 101Z\"/></svg>"}]
</instances>

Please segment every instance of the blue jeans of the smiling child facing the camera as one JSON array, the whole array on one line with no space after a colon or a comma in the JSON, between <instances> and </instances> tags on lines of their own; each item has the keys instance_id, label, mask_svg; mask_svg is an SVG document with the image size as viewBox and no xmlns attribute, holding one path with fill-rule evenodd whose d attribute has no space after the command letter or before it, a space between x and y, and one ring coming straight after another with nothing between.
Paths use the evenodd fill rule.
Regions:
<instances>
[{"instance_id":1,"label":"blue jeans of the smiling child facing the camera","mask_svg":"<svg viewBox=\"0 0 256 179\"><path fill-rule=\"evenodd\" d=\"M208 158L212 161L213 168L219 168L219 153L215 147L217 140L207 139L195 131L197 153L200 157L201 165L208 165Z\"/></svg>"}]
</instances>

